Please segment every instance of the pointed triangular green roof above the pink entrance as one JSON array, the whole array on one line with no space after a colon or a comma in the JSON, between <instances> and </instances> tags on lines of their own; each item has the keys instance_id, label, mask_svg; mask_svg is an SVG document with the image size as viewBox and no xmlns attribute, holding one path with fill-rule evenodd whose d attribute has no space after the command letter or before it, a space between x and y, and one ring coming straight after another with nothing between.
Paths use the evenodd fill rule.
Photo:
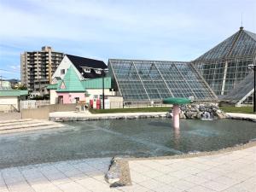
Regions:
<instances>
[{"instance_id":1,"label":"pointed triangular green roof above the pink entrance","mask_svg":"<svg viewBox=\"0 0 256 192\"><path fill-rule=\"evenodd\" d=\"M58 86L57 92L84 92L84 87L81 84L79 76L75 72L73 66L69 67L64 79Z\"/></svg>"}]
</instances>

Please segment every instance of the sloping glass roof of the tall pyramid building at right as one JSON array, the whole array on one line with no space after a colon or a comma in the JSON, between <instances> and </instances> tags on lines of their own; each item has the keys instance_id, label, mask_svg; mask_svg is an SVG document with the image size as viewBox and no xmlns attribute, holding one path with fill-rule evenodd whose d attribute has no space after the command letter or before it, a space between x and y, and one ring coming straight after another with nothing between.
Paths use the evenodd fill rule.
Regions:
<instances>
[{"instance_id":1,"label":"sloping glass roof of the tall pyramid building at right","mask_svg":"<svg viewBox=\"0 0 256 192\"><path fill-rule=\"evenodd\" d=\"M238 32L201 55L195 61L224 59L229 56L256 54L256 34L240 28Z\"/></svg>"}]
</instances>

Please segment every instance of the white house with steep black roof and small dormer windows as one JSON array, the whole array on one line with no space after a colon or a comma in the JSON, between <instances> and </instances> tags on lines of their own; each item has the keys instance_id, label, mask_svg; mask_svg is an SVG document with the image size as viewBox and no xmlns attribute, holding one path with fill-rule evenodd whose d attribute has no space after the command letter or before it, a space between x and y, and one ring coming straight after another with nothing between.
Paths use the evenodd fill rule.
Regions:
<instances>
[{"instance_id":1,"label":"white house with steep black roof and small dormer windows","mask_svg":"<svg viewBox=\"0 0 256 192\"><path fill-rule=\"evenodd\" d=\"M65 55L53 74L52 79L63 79L67 69L71 66L74 67L74 71L80 80L102 78L104 75L103 70L108 68L103 61L76 55Z\"/></svg>"}]
</instances>

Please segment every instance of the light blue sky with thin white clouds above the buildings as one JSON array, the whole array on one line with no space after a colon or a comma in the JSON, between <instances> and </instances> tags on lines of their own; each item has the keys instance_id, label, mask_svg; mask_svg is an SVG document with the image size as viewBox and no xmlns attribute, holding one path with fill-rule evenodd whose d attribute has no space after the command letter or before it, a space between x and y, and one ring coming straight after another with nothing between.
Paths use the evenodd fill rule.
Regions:
<instances>
[{"instance_id":1,"label":"light blue sky with thin white clouds above the buildings","mask_svg":"<svg viewBox=\"0 0 256 192\"><path fill-rule=\"evenodd\" d=\"M20 53L193 61L242 26L255 0L0 0L0 76L20 79Z\"/></svg>"}]
</instances>

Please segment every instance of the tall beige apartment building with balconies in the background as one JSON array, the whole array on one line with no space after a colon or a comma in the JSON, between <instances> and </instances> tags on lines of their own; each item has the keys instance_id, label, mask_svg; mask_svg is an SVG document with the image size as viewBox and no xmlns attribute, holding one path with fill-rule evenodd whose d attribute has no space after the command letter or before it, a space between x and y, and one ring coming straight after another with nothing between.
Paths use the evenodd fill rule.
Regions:
<instances>
[{"instance_id":1,"label":"tall beige apartment building with balconies in the background","mask_svg":"<svg viewBox=\"0 0 256 192\"><path fill-rule=\"evenodd\" d=\"M30 92L47 94L45 88L63 57L63 53L55 52L49 46L42 47L41 51L24 52L20 55L21 83L26 84Z\"/></svg>"}]
</instances>

